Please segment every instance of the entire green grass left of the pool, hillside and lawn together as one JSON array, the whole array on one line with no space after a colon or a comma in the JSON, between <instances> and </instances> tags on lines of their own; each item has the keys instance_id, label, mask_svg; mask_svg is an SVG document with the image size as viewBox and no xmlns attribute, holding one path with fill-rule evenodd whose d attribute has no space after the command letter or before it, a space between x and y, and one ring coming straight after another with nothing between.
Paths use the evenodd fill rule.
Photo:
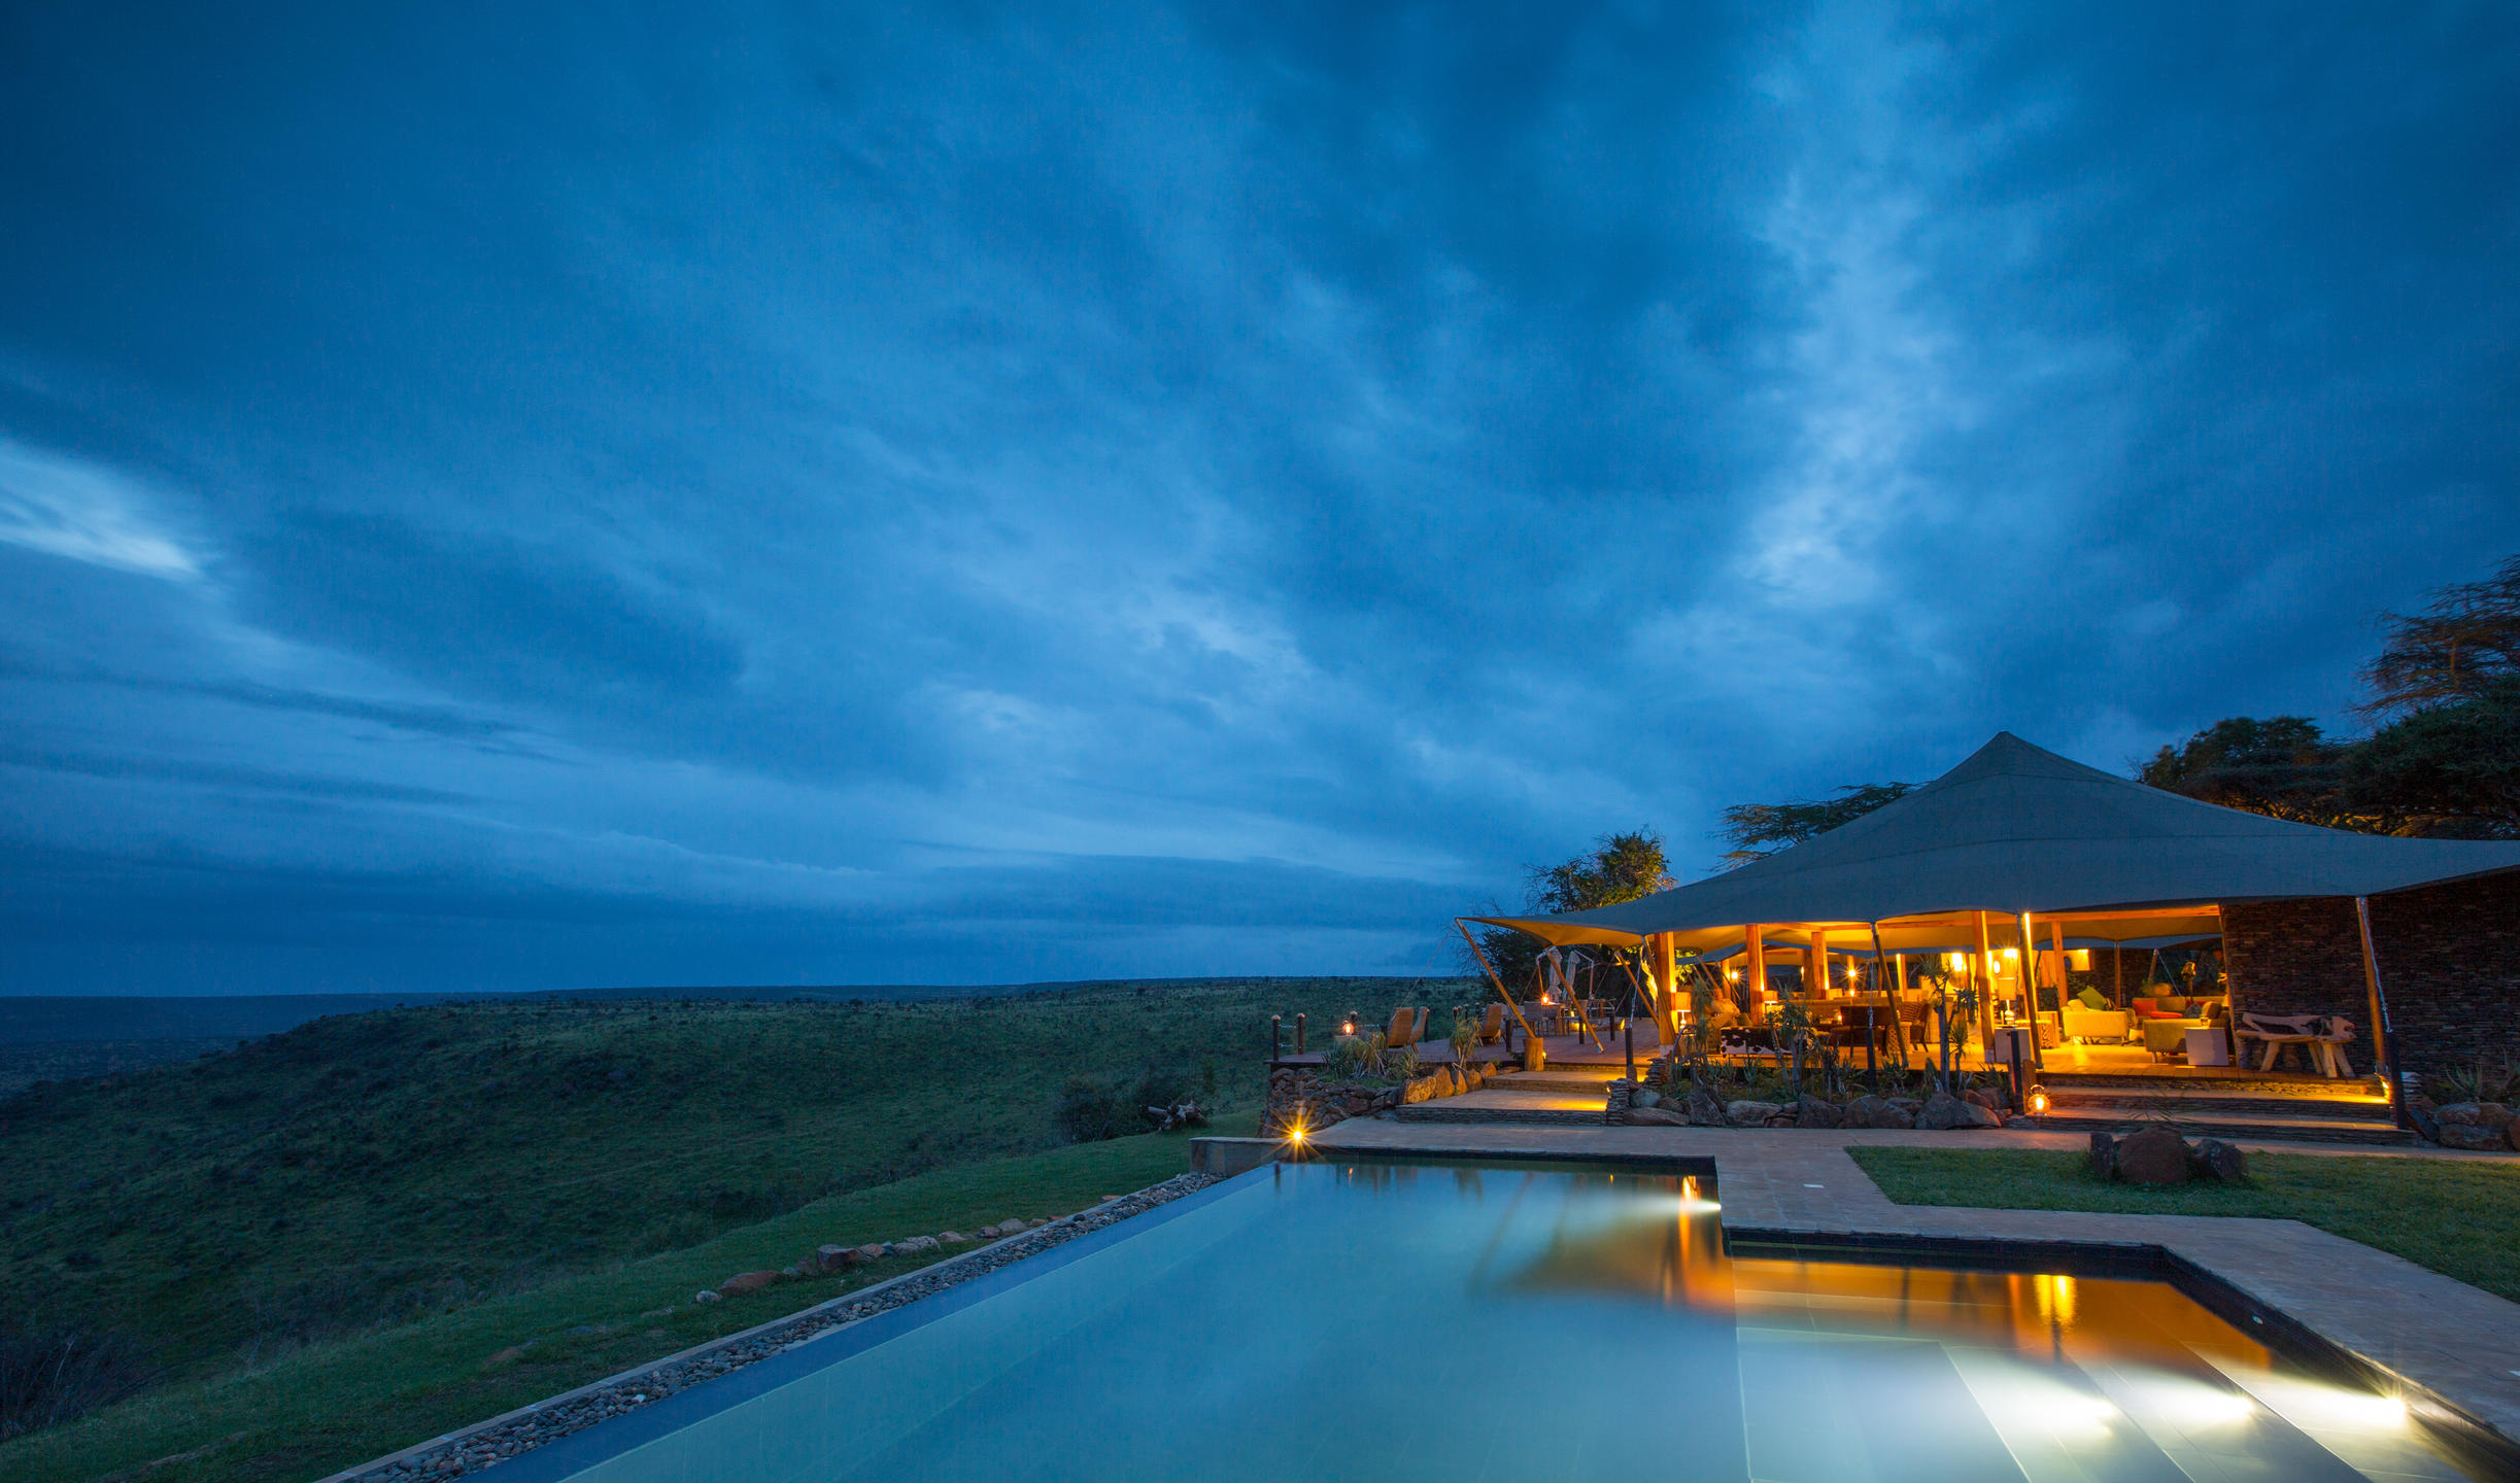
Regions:
<instances>
[{"instance_id":1,"label":"entire green grass left of the pool, hillside and lawn together","mask_svg":"<svg viewBox=\"0 0 2520 1483\"><path fill-rule=\"evenodd\" d=\"M184 1463L186 1478L315 1475L315 1455L436 1435L811 1299L781 1287L693 1309L690 1292L731 1272L786 1266L819 1241L1068 1211L1179 1173L1177 1141L1063 1148L1063 1083L1086 1075L1131 1105L1152 1075L1247 1128L1273 1012L1326 1027L1399 997L1441 1007L1467 984L436 1005L33 1085L0 1100L0 1319L129 1334L161 1382L0 1445L0 1478L108 1475L227 1435L192 1413L247 1435ZM1162 1158L1126 1163L1126 1148ZM1074 1183L990 1209L1033 1176L983 1171L1033 1168L1021 1156ZM852 1234L859 1219L869 1234ZM476 1372L544 1332L524 1362ZM363 1377L363 1355L391 1360ZM363 1410L391 1423L365 1428ZM335 1425L350 1428L340 1445ZM86 1450L63 1450L73 1435ZM305 1448L287 1440L300 1435ZM257 1448L280 1460L239 1460Z\"/></svg>"}]
</instances>

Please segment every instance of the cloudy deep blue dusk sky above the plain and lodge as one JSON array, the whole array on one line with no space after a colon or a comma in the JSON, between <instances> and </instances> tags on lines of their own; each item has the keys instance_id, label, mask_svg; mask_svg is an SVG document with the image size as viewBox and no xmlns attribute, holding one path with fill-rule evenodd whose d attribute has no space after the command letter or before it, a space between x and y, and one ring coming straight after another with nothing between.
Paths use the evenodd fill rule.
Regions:
<instances>
[{"instance_id":1,"label":"cloudy deep blue dusk sky above the plain and lodge","mask_svg":"<svg viewBox=\"0 0 2520 1483\"><path fill-rule=\"evenodd\" d=\"M0 8L0 992L1449 969L2349 728L2520 8Z\"/></svg>"}]
</instances>

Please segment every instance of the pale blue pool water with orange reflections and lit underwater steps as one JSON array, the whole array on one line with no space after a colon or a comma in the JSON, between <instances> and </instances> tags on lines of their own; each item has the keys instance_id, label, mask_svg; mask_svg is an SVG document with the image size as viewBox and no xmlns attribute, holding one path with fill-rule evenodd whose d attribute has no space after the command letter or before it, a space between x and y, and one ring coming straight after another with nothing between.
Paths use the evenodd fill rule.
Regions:
<instances>
[{"instance_id":1,"label":"pale blue pool water with orange reflections and lit underwater steps","mask_svg":"<svg viewBox=\"0 0 2520 1483\"><path fill-rule=\"evenodd\" d=\"M1726 1256L1696 1181L1583 1168L1263 1168L630 1420L501 1473L2467 1478L2170 1284Z\"/></svg>"}]
</instances>

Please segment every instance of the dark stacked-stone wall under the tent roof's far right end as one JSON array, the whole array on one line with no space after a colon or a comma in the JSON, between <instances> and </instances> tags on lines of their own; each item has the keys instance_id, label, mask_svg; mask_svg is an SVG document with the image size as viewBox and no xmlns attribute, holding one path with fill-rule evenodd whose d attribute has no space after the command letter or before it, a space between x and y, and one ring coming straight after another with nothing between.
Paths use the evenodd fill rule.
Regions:
<instances>
[{"instance_id":1,"label":"dark stacked-stone wall under the tent roof's far right end","mask_svg":"<svg viewBox=\"0 0 2520 1483\"><path fill-rule=\"evenodd\" d=\"M2520 874L2371 896L2379 982L2404 1070L2447 1070L2480 1052L2520 1060ZM2351 899L2223 909L2233 1015L2344 1015L2371 1060L2361 932Z\"/></svg>"}]
</instances>

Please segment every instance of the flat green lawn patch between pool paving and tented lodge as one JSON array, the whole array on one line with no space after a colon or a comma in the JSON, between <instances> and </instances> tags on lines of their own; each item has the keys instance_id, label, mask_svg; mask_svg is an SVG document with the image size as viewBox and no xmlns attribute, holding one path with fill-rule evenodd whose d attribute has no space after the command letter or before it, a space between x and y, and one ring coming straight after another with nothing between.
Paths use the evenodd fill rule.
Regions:
<instances>
[{"instance_id":1,"label":"flat green lawn patch between pool paving and tented lodge","mask_svg":"<svg viewBox=\"0 0 2520 1483\"><path fill-rule=\"evenodd\" d=\"M1903 1206L2273 1216L2336 1231L2520 1302L2520 1166L2250 1153L2243 1183L2104 1183L2082 1153L1847 1148Z\"/></svg>"}]
</instances>

